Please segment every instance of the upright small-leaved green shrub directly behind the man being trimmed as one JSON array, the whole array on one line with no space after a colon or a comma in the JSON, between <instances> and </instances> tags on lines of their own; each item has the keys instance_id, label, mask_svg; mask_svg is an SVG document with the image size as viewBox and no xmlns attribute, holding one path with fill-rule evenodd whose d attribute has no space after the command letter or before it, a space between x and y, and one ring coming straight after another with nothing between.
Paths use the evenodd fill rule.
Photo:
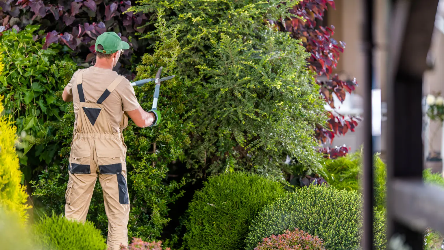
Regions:
<instances>
[{"instance_id":1,"label":"upright small-leaved green shrub directly behind the man being trimmed","mask_svg":"<svg viewBox=\"0 0 444 250\"><path fill-rule=\"evenodd\" d=\"M159 42L153 54L143 57L145 62L142 77L154 77L157 69L163 66L163 76L177 74L175 63L180 52L174 30L169 30L162 19L156 25ZM150 70L148 72L148 70ZM147 78L147 77L145 77ZM186 98L181 93L182 86L175 77L162 83L159 109L163 122L155 128L139 128L132 121L123 131L127 151L128 191L131 211L128 223L128 236L143 240L160 238L163 227L170 221L168 205L182 195L179 190L184 184L167 179L168 165L182 155L182 149L190 142L185 133L179 114L183 112L179 105ZM135 87L136 96L143 109L151 109L154 84ZM183 98L183 99L181 99ZM54 141L62 141L64 147L59 154L63 156L60 164L50 165L40 174L40 179L33 182L34 195L38 196L48 212L54 210L63 213L65 190L68 180L68 157L74 113L72 103L56 128ZM180 181L180 178L179 178ZM177 191L177 192L176 192ZM95 185L87 219L107 235L108 221L103 206L103 194L99 184Z\"/></svg>"}]
</instances>

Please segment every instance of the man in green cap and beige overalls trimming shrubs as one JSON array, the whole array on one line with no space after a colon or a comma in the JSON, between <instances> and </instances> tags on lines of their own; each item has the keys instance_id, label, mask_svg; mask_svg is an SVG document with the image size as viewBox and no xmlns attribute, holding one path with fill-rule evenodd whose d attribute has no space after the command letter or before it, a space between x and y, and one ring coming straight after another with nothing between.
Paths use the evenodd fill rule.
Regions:
<instances>
[{"instance_id":1,"label":"man in green cap and beige overalls trimming shrubs","mask_svg":"<svg viewBox=\"0 0 444 250\"><path fill-rule=\"evenodd\" d=\"M63 90L63 101L74 101L75 114L65 217L86 220L99 177L111 250L128 244L130 200L122 130L128 125L128 116L139 127L151 127L160 119L158 111L142 109L130 82L112 70L128 48L115 32L103 33L95 42L95 65L75 72Z\"/></svg>"}]
</instances>

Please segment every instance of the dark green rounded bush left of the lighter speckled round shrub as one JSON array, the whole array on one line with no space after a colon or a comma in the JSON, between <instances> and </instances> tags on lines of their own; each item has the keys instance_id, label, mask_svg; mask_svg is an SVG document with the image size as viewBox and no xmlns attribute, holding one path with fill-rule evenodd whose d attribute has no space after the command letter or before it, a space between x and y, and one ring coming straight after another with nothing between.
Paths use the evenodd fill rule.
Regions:
<instances>
[{"instance_id":1,"label":"dark green rounded bush left of the lighter speckled round shrub","mask_svg":"<svg viewBox=\"0 0 444 250\"><path fill-rule=\"evenodd\" d=\"M213 176L189 204L184 243L190 250L238 250L263 206L285 194L282 185L258 175Z\"/></svg>"}]
</instances>

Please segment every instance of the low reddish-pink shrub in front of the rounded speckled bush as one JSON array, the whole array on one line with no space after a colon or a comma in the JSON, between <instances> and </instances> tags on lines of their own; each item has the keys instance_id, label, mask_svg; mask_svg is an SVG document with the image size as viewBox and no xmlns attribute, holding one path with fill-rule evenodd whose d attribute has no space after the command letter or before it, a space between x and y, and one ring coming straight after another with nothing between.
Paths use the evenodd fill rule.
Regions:
<instances>
[{"instance_id":1,"label":"low reddish-pink shrub in front of the rounded speckled bush","mask_svg":"<svg viewBox=\"0 0 444 250\"><path fill-rule=\"evenodd\" d=\"M317 236L311 236L302 230L286 230L285 234L271 235L264 238L254 250L325 250Z\"/></svg>"}]
</instances>

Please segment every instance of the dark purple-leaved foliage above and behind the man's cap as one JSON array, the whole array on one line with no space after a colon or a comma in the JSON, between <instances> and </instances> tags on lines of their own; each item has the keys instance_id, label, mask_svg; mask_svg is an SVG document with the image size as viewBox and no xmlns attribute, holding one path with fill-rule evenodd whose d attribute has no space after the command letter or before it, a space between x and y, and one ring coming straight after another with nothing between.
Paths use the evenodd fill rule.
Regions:
<instances>
[{"instance_id":1,"label":"dark purple-leaved foliage above and behind the man's cap","mask_svg":"<svg viewBox=\"0 0 444 250\"><path fill-rule=\"evenodd\" d=\"M135 39L135 32L143 32L148 20L144 13L128 12L131 1L112 0L0 0L0 35L4 30L23 29L27 24L39 23L47 33L43 48L61 43L71 48L79 64L95 62L94 44L97 36L115 31L131 45L123 56L123 64L131 67L131 54L147 46L146 41ZM23 11L23 9L25 11ZM132 37L130 40L129 37ZM92 49L91 49L92 48ZM140 51L143 54L143 51ZM118 65L120 66L120 65ZM131 70L119 69L120 74L132 79Z\"/></svg>"}]
</instances>

